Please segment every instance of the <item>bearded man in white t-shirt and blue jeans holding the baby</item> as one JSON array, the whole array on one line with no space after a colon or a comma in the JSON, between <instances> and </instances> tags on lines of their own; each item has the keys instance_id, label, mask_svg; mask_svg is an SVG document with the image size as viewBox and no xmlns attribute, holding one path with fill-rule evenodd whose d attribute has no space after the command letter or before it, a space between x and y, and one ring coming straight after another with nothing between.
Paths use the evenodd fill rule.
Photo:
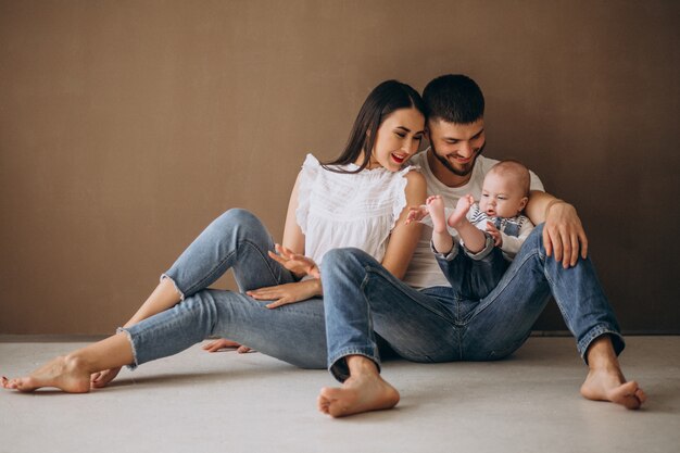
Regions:
<instances>
[{"instance_id":1,"label":"bearded man in white t-shirt and blue jeans holding the baby","mask_svg":"<svg viewBox=\"0 0 680 453\"><path fill-rule=\"evenodd\" d=\"M428 194L441 194L450 207L466 193L479 199L484 174L495 163L481 156L481 90L464 75L445 75L430 81L423 97L430 148L414 163L426 176ZM538 227L498 287L480 301L454 297L429 247L427 228L404 281L357 249L325 256L320 274L328 364L343 383L322 389L322 412L344 416L399 402L396 389L379 375L379 338L415 362L502 358L525 342L551 294L589 366L581 394L627 408L644 402L638 383L627 382L620 370L617 355L624 340L588 259L576 210L544 193L536 175L531 179L526 213ZM490 247L492 242L480 253ZM456 252L454 248L451 253Z\"/></svg>"}]
</instances>

